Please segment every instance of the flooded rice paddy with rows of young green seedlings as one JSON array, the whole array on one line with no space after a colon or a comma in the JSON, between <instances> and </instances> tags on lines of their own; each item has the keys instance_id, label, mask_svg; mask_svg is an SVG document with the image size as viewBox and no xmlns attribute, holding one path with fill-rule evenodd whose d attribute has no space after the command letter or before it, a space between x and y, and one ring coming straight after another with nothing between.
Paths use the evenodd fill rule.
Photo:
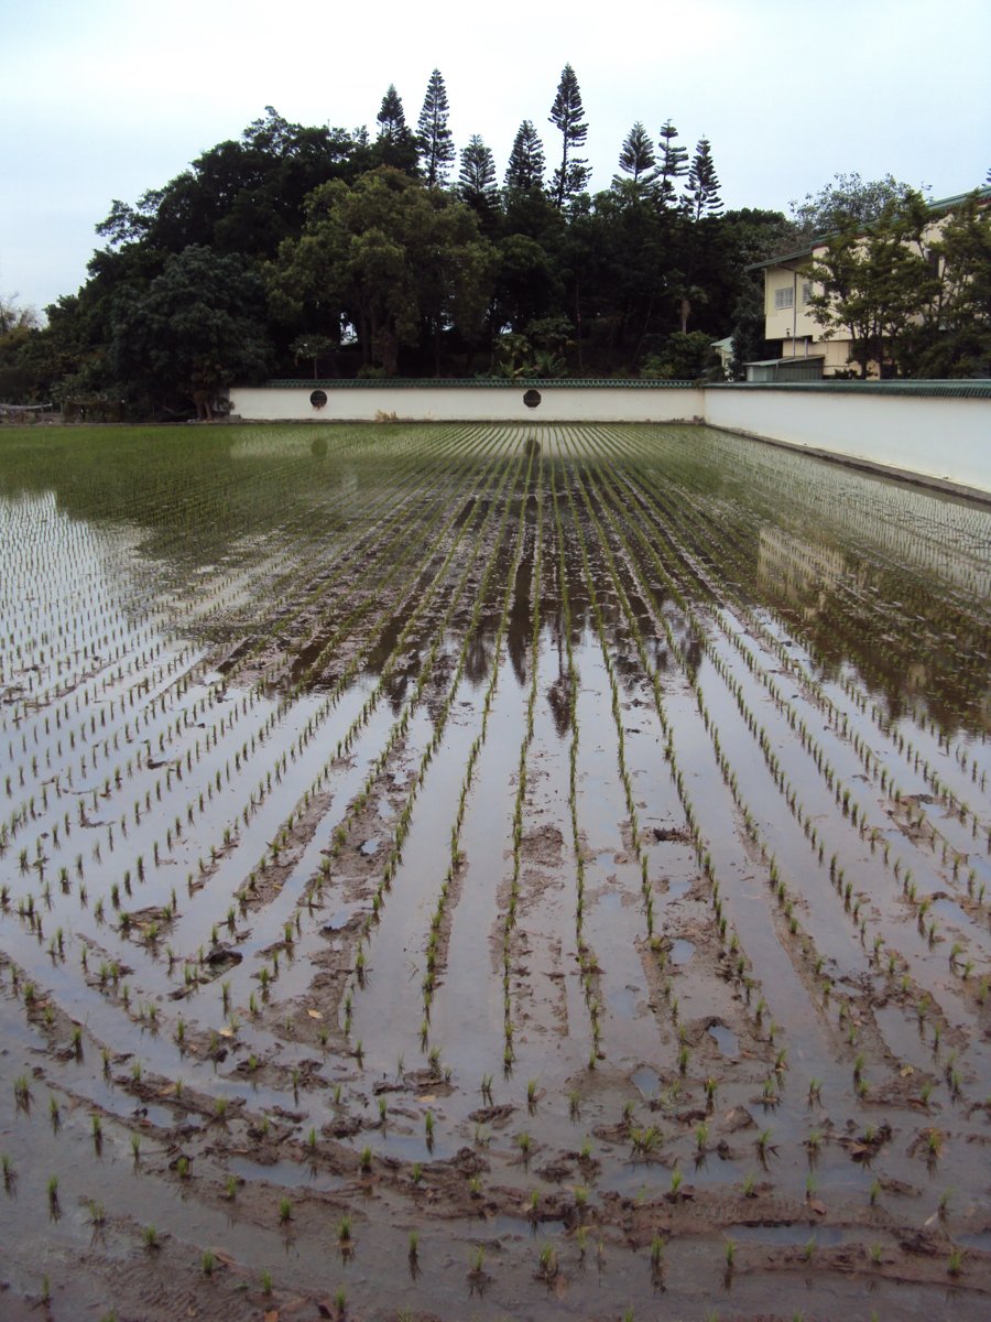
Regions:
<instances>
[{"instance_id":1,"label":"flooded rice paddy with rows of young green seedlings","mask_svg":"<svg viewBox=\"0 0 991 1322\"><path fill-rule=\"evenodd\" d=\"M991 1309L991 513L0 436L0 1314Z\"/></svg>"}]
</instances>

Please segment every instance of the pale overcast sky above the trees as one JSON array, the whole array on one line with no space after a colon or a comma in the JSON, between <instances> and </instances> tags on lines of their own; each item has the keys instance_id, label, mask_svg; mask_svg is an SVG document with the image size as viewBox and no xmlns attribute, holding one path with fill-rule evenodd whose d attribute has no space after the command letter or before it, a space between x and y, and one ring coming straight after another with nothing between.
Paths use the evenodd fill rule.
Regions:
<instances>
[{"instance_id":1,"label":"pale overcast sky above the trees","mask_svg":"<svg viewBox=\"0 0 991 1322\"><path fill-rule=\"evenodd\" d=\"M86 279L96 225L274 106L353 128L390 82L415 127L440 69L459 147L499 180L566 62L608 188L634 120L710 139L727 206L788 210L838 172L946 197L991 167L991 0L0 0L0 293Z\"/></svg>"}]
</instances>

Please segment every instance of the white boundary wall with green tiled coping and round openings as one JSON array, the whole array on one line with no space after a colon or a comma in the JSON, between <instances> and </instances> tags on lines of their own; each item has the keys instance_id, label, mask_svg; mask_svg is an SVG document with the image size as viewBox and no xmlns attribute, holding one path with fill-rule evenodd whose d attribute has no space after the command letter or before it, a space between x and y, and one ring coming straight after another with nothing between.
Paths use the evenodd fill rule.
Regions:
<instances>
[{"instance_id":1,"label":"white boundary wall with green tiled coping and round openings","mask_svg":"<svg viewBox=\"0 0 991 1322\"><path fill-rule=\"evenodd\" d=\"M328 397L314 408L311 394ZM529 389L540 403L523 403ZM934 485L991 493L991 390L963 382L830 386L387 385L234 386L246 422L696 422L877 467Z\"/></svg>"}]
</instances>

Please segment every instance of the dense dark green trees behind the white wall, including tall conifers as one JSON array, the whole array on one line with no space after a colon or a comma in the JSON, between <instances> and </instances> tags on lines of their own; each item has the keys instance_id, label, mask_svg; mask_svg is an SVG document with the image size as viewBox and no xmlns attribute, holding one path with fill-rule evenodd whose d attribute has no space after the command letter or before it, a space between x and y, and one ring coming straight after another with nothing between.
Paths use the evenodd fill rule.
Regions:
<instances>
[{"instance_id":1,"label":"dense dark green trees behind the white wall, including tall conifers","mask_svg":"<svg viewBox=\"0 0 991 1322\"><path fill-rule=\"evenodd\" d=\"M550 122L551 177L523 119L499 188L481 135L457 155L436 69L416 132L394 85L374 136L267 107L169 182L115 200L89 279L46 309L46 325L0 300L0 399L112 399L168 415L234 378L303 365L311 375L708 370L703 342L732 330L737 358L765 356L747 266L823 231L819 313L854 334L859 361L988 371L987 206L962 205L934 237L905 185L847 175L793 204L791 219L724 213L708 139L690 159L670 118L657 145L636 120L610 186L589 193L571 65Z\"/></svg>"}]
</instances>

